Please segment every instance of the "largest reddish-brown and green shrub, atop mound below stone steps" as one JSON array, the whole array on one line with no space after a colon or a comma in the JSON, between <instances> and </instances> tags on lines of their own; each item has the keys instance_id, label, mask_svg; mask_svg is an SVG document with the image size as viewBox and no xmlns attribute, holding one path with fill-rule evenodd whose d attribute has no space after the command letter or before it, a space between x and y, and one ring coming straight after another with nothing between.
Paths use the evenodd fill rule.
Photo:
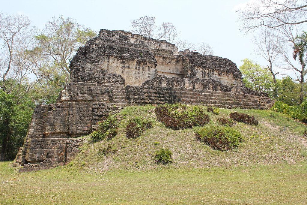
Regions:
<instances>
[{"instance_id":1,"label":"largest reddish-brown and green shrub, atop mound below stone steps","mask_svg":"<svg viewBox=\"0 0 307 205\"><path fill-rule=\"evenodd\" d=\"M173 129L192 128L202 126L209 122L210 118L204 111L196 106L183 104L165 104L155 108L157 120L166 127Z\"/></svg>"}]
</instances>

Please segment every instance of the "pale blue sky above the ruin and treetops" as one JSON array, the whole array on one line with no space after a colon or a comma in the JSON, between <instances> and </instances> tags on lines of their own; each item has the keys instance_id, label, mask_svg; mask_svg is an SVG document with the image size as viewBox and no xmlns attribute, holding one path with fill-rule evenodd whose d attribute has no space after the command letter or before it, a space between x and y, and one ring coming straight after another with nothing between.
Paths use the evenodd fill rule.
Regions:
<instances>
[{"instance_id":1,"label":"pale blue sky above the ruin and treetops","mask_svg":"<svg viewBox=\"0 0 307 205\"><path fill-rule=\"evenodd\" d=\"M266 65L253 54L253 34L240 31L236 10L247 0L0 0L0 11L23 14L31 25L43 29L45 23L63 15L93 30L130 30L130 20L144 15L156 17L156 24L171 22L180 32L181 40L195 44L206 42L214 55L228 58L239 67L244 58Z\"/></svg>"}]
</instances>

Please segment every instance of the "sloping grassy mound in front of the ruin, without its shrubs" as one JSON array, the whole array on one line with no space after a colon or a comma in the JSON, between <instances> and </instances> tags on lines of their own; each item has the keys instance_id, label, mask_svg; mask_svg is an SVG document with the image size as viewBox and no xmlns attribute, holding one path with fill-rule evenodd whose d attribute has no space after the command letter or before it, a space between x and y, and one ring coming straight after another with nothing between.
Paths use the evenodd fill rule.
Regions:
<instances>
[{"instance_id":1,"label":"sloping grassy mound in front of the ruin, without its shrubs","mask_svg":"<svg viewBox=\"0 0 307 205\"><path fill-rule=\"evenodd\" d=\"M219 108L220 115L208 113L210 121L205 127L218 125L218 118L227 118L231 112L245 112L259 120L258 126L237 122L233 127L245 139L240 145L227 152L212 149L197 140L195 132L203 126L174 130L157 120L155 106L130 106L118 115L121 122L118 133L110 140L85 144L80 154L70 164L84 171L104 173L116 170L152 170L165 166L156 163L155 152L168 148L172 152L171 168L204 168L215 166L253 166L257 164L294 164L306 160L307 139L303 137L306 125L288 116L268 110L242 110ZM207 113L207 107L197 106ZM152 127L136 139L126 137L126 125L135 116L150 120ZM227 128L227 127L225 127ZM90 139L90 138L89 138ZM109 144L116 152L104 154L99 149ZM305 143L305 144L304 144ZM98 154L100 153L100 154ZM81 163L85 164L81 166Z\"/></svg>"}]
</instances>

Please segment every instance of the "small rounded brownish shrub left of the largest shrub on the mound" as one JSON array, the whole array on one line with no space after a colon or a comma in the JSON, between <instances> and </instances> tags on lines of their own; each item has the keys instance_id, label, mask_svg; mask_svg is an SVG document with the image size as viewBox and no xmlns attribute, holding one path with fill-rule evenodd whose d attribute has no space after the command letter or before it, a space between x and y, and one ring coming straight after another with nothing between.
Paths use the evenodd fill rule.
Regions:
<instances>
[{"instance_id":1,"label":"small rounded brownish shrub left of the largest shrub on the mound","mask_svg":"<svg viewBox=\"0 0 307 205\"><path fill-rule=\"evenodd\" d=\"M141 136L146 129L151 128L150 120L144 120L142 117L134 117L128 121L126 126L126 136L128 138L137 138Z\"/></svg>"}]
</instances>

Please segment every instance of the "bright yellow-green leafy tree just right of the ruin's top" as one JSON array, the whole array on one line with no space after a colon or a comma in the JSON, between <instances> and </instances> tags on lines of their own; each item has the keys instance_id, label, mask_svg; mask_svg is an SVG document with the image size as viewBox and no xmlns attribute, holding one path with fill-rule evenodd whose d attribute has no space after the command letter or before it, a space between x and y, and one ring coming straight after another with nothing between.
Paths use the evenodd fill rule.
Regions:
<instances>
[{"instance_id":1,"label":"bright yellow-green leafy tree just right of the ruin's top","mask_svg":"<svg viewBox=\"0 0 307 205\"><path fill-rule=\"evenodd\" d=\"M243 76L243 82L246 87L266 92L270 97L274 97L274 81L271 73L250 59L243 59L243 65L239 70Z\"/></svg>"}]
</instances>

